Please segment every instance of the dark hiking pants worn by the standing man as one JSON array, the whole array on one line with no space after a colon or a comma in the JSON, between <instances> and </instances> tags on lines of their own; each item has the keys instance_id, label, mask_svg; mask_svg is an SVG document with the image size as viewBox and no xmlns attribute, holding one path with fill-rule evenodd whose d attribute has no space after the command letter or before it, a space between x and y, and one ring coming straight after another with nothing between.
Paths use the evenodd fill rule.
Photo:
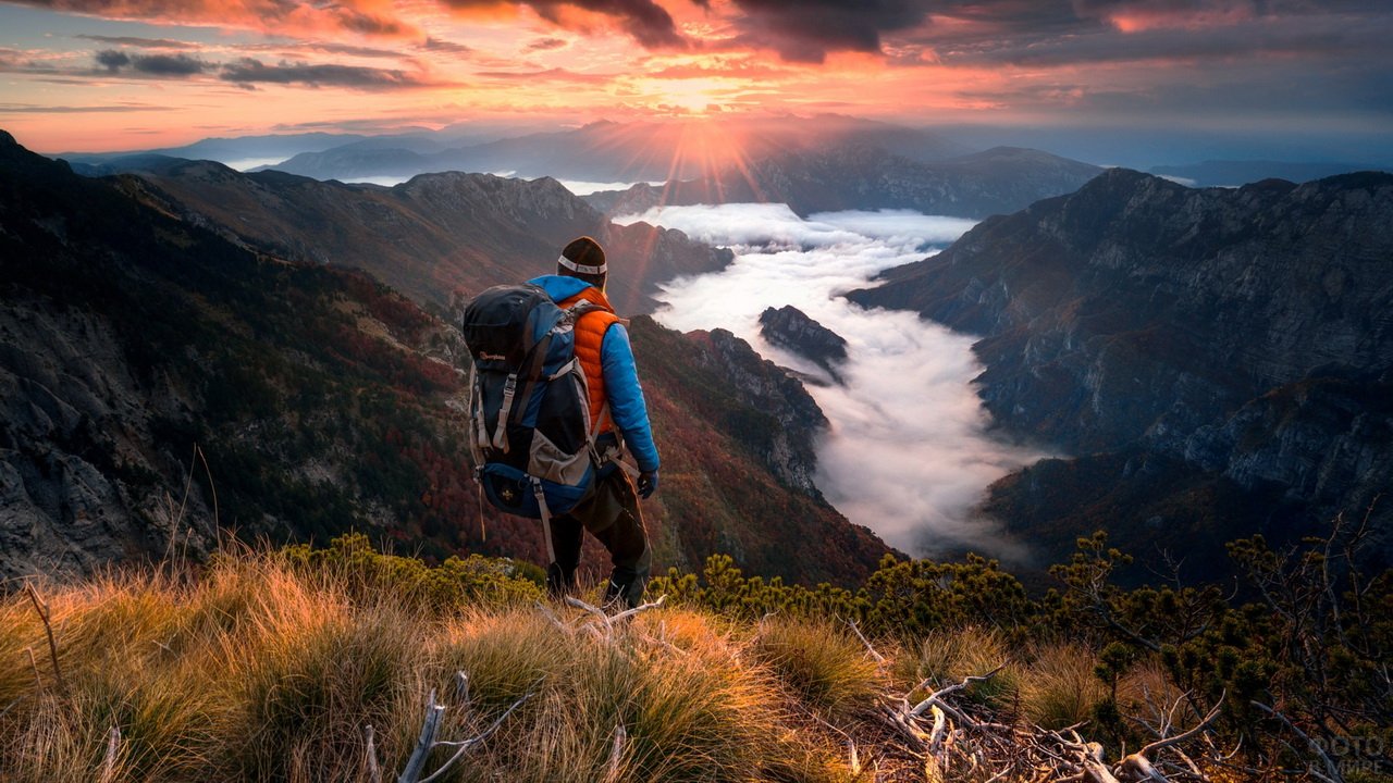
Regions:
<instances>
[{"instance_id":1,"label":"dark hiking pants worn by the standing man","mask_svg":"<svg viewBox=\"0 0 1393 783\"><path fill-rule=\"evenodd\" d=\"M605 602L620 599L630 607L638 606L653 556L644 531L644 515L638 510L638 492L624 471L612 468L599 478L588 499L571 513L552 520L556 563L546 570L546 588L553 596L575 589L584 531L591 531L605 545L614 564L605 588Z\"/></svg>"}]
</instances>

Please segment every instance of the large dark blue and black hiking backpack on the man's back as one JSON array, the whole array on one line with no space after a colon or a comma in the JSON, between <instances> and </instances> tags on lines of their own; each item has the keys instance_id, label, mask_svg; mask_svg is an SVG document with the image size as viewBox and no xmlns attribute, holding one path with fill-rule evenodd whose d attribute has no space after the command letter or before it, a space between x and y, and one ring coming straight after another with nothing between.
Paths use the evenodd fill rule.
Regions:
<instances>
[{"instance_id":1,"label":"large dark blue and black hiking backpack on the man's back","mask_svg":"<svg viewBox=\"0 0 1393 783\"><path fill-rule=\"evenodd\" d=\"M486 288L464 311L474 357L469 443L489 502L547 524L595 482L595 429L575 319L599 305L560 308L539 286Z\"/></svg>"}]
</instances>

